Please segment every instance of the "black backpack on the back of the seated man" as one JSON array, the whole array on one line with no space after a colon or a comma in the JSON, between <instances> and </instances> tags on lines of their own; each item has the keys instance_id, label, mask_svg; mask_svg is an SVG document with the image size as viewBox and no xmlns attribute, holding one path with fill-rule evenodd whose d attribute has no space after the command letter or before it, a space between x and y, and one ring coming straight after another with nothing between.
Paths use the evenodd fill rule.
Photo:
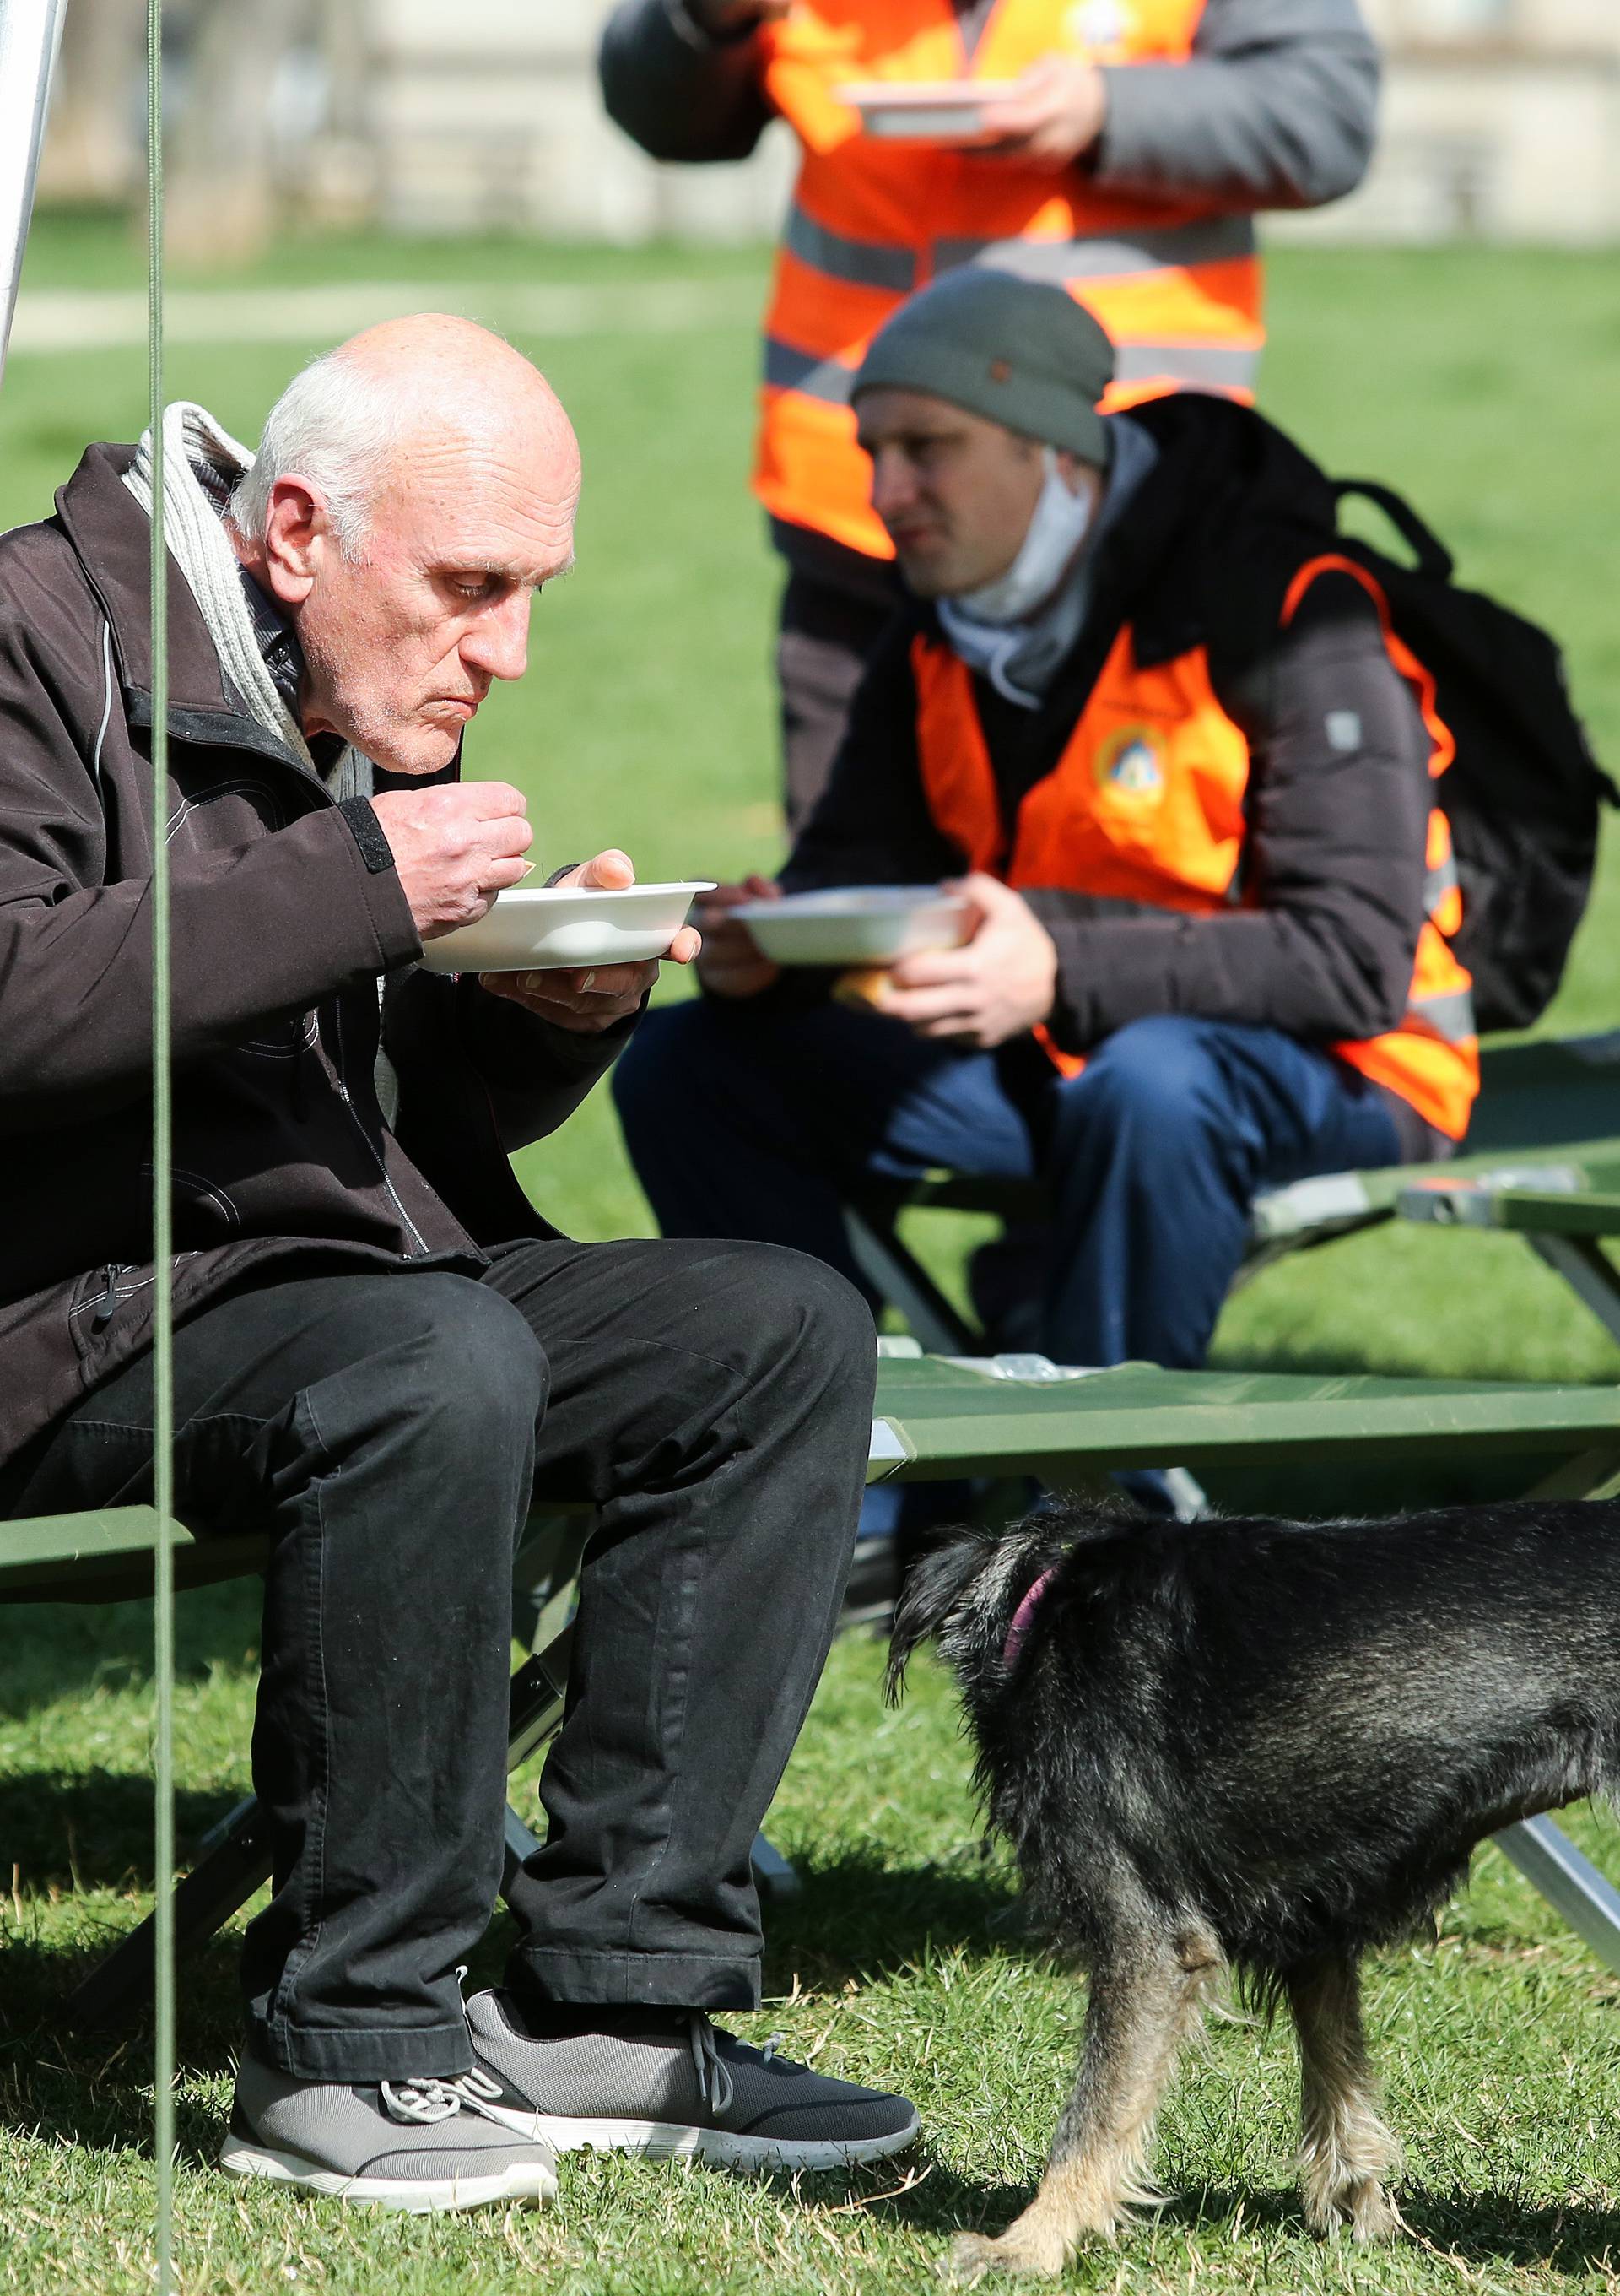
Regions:
<instances>
[{"instance_id":1,"label":"black backpack on the back of the seated man","mask_svg":"<svg viewBox=\"0 0 1620 2296\"><path fill-rule=\"evenodd\" d=\"M1459 590L1450 551L1388 487L1340 478L1333 494L1374 503L1416 558L1400 565L1358 535L1338 537L1388 597L1457 739L1439 794L1462 882L1452 946L1473 974L1478 1024L1524 1029L1558 987L1592 889L1597 808L1620 804L1620 790L1588 748L1547 631Z\"/></svg>"}]
</instances>

